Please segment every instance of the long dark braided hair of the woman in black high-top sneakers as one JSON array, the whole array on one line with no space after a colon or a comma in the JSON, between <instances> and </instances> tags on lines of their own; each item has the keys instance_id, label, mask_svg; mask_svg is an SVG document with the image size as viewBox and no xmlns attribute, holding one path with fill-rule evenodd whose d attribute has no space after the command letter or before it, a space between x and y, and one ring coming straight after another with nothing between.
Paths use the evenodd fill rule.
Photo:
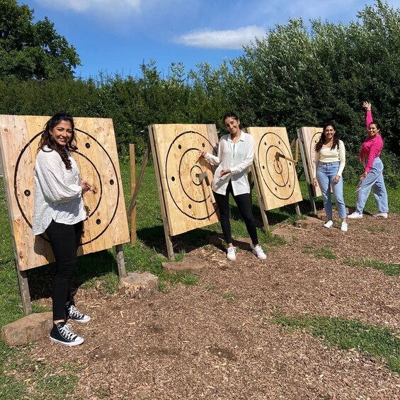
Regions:
<instances>
[{"instance_id":1,"label":"long dark braided hair of the woman in black high-top sneakers","mask_svg":"<svg viewBox=\"0 0 400 400\"><path fill-rule=\"evenodd\" d=\"M69 121L71 122L72 127L72 136L69 142L64 147L59 147L57 143L52 139L51 131L54 127L56 127L61 121ZM49 148L50 150L45 150L44 147ZM68 152L76 152L78 147L76 147L76 138L75 138L75 124L74 118L71 115L60 112L56 115L53 115L50 120L46 122L45 129L42 132L42 137L39 142L39 150L43 150L43 152L52 152L53 150L59 154L62 161L65 164L65 168L71 169L71 161L69 160Z\"/></svg>"}]
</instances>

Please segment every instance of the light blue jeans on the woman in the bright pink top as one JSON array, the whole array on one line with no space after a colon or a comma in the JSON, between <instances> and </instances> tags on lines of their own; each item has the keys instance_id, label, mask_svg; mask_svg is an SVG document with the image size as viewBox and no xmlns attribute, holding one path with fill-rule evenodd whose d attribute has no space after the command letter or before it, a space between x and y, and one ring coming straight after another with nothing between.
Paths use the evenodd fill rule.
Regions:
<instances>
[{"instance_id":1,"label":"light blue jeans on the woman in the bright pink top","mask_svg":"<svg viewBox=\"0 0 400 400\"><path fill-rule=\"evenodd\" d=\"M374 160L370 172L367 173L367 176L362 179L360 183L357 192L357 212L362 213L364 210L365 203L367 202L372 188L374 188L374 197L378 211L389 212L389 206L387 205L387 192L383 179L383 164L379 157Z\"/></svg>"}]
</instances>

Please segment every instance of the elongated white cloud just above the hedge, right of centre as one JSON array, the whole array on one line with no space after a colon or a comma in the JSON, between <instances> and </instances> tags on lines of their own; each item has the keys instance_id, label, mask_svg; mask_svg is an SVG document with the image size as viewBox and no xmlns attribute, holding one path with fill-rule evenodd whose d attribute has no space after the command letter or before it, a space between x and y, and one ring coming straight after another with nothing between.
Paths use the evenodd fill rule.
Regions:
<instances>
[{"instance_id":1,"label":"elongated white cloud just above the hedge, right of centre","mask_svg":"<svg viewBox=\"0 0 400 400\"><path fill-rule=\"evenodd\" d=\"M236 30L193 30L174 41L192 47L239 50L243 46L249 45L256 37L261 38L264 34L264 28L251 25Z\"/></svg>"}]
</instances>

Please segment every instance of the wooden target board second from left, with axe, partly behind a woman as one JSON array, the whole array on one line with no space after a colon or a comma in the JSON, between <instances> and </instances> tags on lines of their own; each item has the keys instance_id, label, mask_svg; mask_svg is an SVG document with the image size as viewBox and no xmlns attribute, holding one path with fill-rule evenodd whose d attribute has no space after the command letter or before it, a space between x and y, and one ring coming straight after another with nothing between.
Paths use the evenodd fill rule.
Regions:
<instances>
[{"instance_id":1,"label":"wooden target board second from left, with axe, partly behind a woman","mask_svg":"<svg viewBox=\"0 0 400 400\"><path fill-rule=\"evenodd\" d=\"M166 236L217 222L210 190L199 180L207 172L211 183L216 167L198 159L200 150L217 155L215 125L150 125L149 137Z\"/></svg>"}]
</instances>

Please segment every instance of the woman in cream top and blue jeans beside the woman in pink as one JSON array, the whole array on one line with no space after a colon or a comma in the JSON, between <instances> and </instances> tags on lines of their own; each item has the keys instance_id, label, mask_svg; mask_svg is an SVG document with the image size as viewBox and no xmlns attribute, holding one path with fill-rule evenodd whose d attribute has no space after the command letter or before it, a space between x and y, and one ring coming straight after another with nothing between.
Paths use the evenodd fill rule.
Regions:
<instances>
[{"instance_id":1,"label":"woman in cream top and blue jeans beside the woman in pink","mask_svg":"<svg viewBox=\"0 0 400 400\"><path fill-rule=\"evenodd\" d=\"M332 123L324 125L319 142L315 145L315 166L312 183L321 188L322 198L328 221L324 227L331 228L332 221L332 202L331 187L335 195L336 208L339 217L342 219L341 230L346 232L348 229L345 213L345 202L343 200L343 178L342 173L345 168L345 146L338 138L336 128Z\"/></svg>"}]
</instances>

